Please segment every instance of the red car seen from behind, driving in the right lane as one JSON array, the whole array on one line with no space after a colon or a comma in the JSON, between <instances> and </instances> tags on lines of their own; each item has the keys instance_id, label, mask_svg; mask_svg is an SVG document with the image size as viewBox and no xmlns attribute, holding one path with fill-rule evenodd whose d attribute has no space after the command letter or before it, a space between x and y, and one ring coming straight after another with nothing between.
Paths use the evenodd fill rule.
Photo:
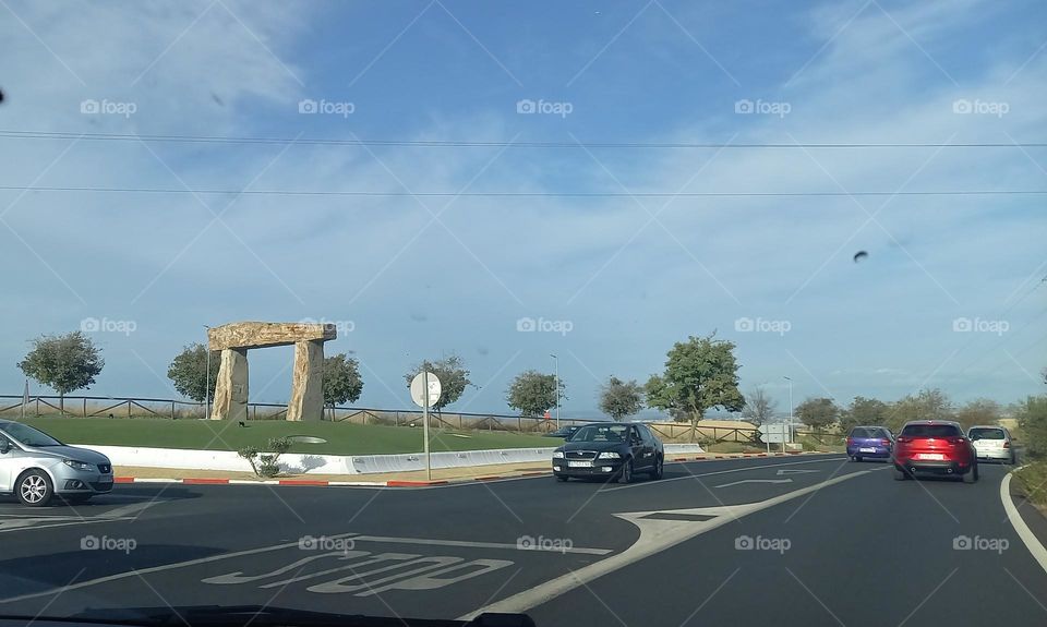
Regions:
<instances>
[{"instance_id":1,"label":"red car seen from behind, driving in the right lane","mask_svg":"<svg viewBox=\"0 0 1047 627\"><path fill-rule=\"evenodd\" d=\"M978 456L959 422L914 420L906 422L894 443L894 479L919 474L978 480Z\"/></svg>"}]
</instances>

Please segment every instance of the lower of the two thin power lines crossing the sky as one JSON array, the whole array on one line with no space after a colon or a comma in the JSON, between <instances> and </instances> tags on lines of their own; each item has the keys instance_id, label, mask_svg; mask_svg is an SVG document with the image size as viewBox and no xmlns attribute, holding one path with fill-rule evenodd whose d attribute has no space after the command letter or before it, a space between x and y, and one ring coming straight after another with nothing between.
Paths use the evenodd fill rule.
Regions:
<instances>
[{"instance_id":1,"label":"lower of the two thin power lines crossing the sky","mask_svg":"<svg viewBox=\"0 0 1047 627\"><path fill-rule=\"evenodd\" d=\"M335 190L228 190L190 188L116 188L68 185L0 185L12 192L88 192L130 194L242 194L255 196L353 196L353 197L497 197L497 198L766 198L852 196L1042 196L1047 190L938 190L910 192L377 192Z\"/></svg>"}]
</instances>

